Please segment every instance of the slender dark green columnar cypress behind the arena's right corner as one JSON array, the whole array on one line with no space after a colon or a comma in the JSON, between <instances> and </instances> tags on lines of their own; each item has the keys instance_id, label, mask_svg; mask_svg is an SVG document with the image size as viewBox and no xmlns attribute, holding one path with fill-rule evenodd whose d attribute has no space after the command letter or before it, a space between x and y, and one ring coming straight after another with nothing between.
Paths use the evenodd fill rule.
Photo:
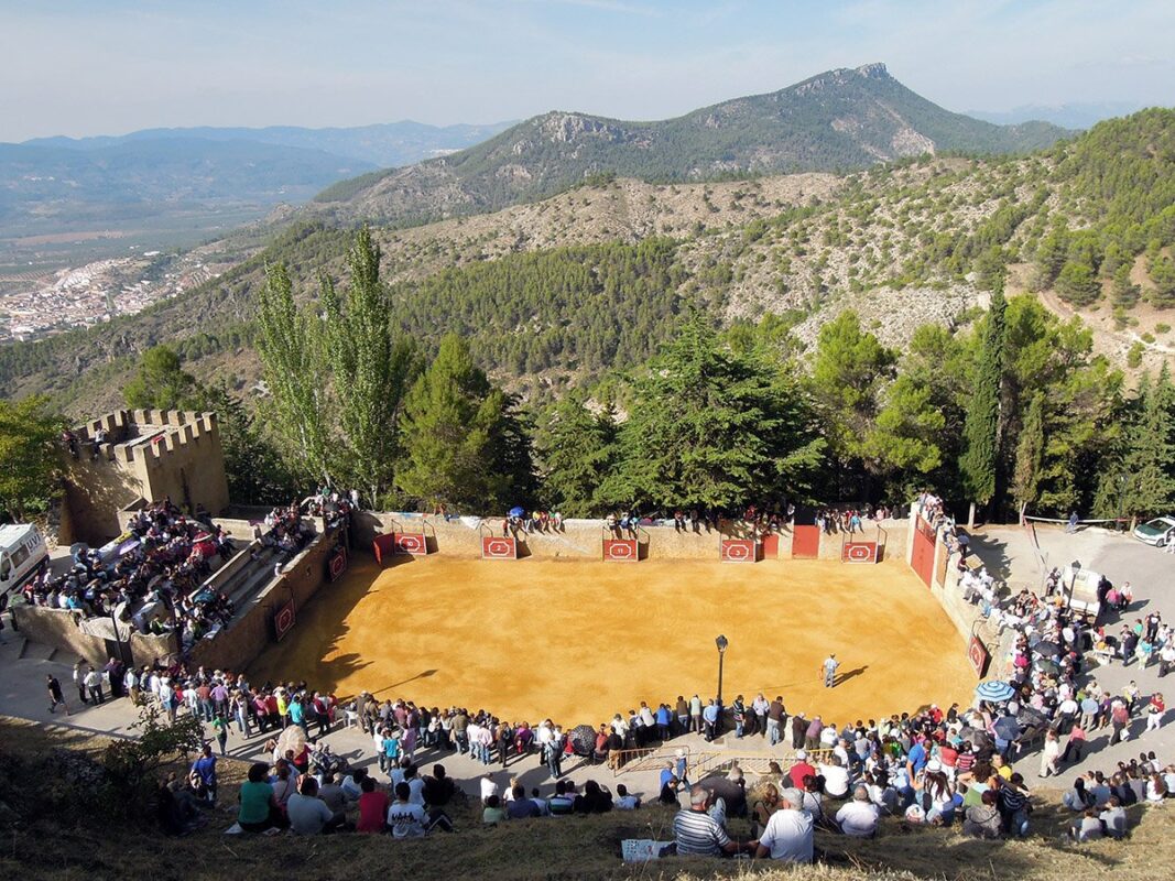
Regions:
<instances>
[{"instance_id":1,"label":"slender dark green columnar cypress behind the arena's right corner","mask_svg":"<svg viewBox=\"0 0 1175 881\"><path fill-rule=\"evenodd\" d=\"M959 471L972 499L986 505L995 497L1000 451L1000 388L1003 379L1003 291L992 295L992 305L975 365L975 379L964 423L964 450Z\"/></svg>"}]
</instances>

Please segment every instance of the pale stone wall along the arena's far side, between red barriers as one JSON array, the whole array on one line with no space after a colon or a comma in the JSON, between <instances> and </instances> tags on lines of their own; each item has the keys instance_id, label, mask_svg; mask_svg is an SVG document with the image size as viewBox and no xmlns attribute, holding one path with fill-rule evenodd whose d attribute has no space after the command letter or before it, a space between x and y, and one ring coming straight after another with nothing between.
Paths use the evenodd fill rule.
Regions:
<instances>
[{"instance_id":1,"label":"pale stone wall along the arena's far side, between red barriers","mask_svg":"<svg viewBox=\"0 0 1175 881\"><path fill-rule=\"evenodd\" d=\"M900 553L906 544L907 524L904 520L886 520L882 530L868 526L861 540L880 540L887 544L889 553ZM478 518L423 517L407 513L380 513L363 511L355 518L355 542L358 547L369 549L375 536L388 532L424 533L434 553L452 557L481 557L483 534L502 534L502 518L478 520ZM743 538L748 533L741 524L723 523L720 531L677 532L672 526L642 526L642 559L697 559L717 560L718 543L721 538ZM519 556L540 559L598 560L603 556L603 520L564 520L560 532L519 533ZM841 533L821 534L821 559L840 559ZM792 532L790 529L777 534L778 559L791 557ZM772 554L767 558L772 559Z\"/></svg>"}]
</instances>

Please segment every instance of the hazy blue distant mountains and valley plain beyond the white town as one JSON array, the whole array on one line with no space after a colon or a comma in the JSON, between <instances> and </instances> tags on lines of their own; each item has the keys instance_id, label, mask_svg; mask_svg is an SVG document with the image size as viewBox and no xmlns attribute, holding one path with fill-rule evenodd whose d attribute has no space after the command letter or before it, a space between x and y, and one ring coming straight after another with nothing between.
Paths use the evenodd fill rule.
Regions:
<instances>
[{"instance_id":1,"label":"hazy blue distant mountains and valley plain beyond the white town","mask_svg":"<svg viewBox=\"0 0 1175 881\"><path fill-rule=\"evenodd\" d=\"M0 265L89 260L129 242L193 244L336 181L451 153L509 125L146 129L0 143ZM45 237L54 242L48 257Z\"/></svg>"}]
</instances>

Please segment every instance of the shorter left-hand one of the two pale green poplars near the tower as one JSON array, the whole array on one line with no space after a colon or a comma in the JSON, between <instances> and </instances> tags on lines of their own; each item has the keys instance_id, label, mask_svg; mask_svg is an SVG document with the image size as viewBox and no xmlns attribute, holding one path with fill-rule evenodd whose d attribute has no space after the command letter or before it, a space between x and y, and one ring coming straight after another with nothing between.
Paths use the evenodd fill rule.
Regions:
<instances>
[{"instance_id":1,"label":"shorter left-hand one of the two pale green poplars near the tower","mask_svg":"<svg viewBox=\"0 0 1175 881\"><path fill-rule=\"evenodd\" d=\"M331 482L324 370L316 327L294 302L281 263L266 269L257 294L257 356L270 397L261 410L282 438L290 462L307 477Z\"/></svg>"}]
</instances>

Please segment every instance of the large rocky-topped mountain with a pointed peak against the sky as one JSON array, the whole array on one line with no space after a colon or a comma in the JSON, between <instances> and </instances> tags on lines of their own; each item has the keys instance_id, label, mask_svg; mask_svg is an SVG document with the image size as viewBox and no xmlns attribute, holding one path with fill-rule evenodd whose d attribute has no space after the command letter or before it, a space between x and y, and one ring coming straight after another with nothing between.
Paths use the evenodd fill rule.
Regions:
<instances>
[{"instance_id":1,"label":"large rocky-topped mountain with a pointed peak against the sky","mask_svg":"<svg viewBox=\"0 0 1175 881\"><path fill-rule=\"evenodd\" d=\"M451 156L338 183L317 200L337 220L414 223L548 197L593 175L690 181L865 168L924 153L1021 153L1072 134L945 110L885 65L837 69L766 95L659 122L553 112Z\"/></svg>"}]
</instances>

